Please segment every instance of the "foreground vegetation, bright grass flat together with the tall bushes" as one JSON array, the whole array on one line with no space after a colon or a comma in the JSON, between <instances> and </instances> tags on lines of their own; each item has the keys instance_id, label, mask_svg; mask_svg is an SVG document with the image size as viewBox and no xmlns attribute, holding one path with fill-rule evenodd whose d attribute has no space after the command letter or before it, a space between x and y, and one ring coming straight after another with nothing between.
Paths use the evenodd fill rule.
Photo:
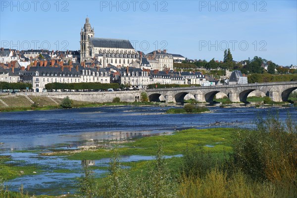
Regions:
<instances>
[{"instance_id":1,"label":"foreground vegetation, bright grass flat together with the tall bushes","mask_svg":"<svg viewBox=\"0 0 297 198\"><path fill-rule=\"evenodd\" d=\"M77 180L76 197L294 198L297 195L297 124L290 115L286 122L272 115L265 120L258 118L254 130L188 129L122 146L62 153L69 159L111 157L104 178L96 178L91 167L84 167L83 176ZM152 153L155 160L119 161L119 155ZM174 154L183 155L165 158ZM5 193L8 195L2 188L0 195ZM10 198L20 198L17 196Z\"/></svg>"}]
</instances>

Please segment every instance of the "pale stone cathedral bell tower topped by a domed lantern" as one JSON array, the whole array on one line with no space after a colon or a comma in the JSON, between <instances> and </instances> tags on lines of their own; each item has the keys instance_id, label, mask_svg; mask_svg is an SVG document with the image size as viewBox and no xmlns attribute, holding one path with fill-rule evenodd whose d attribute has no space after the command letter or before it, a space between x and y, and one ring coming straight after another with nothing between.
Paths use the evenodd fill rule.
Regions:
<instances>
[{"instance_id":1,"label":"pale stone cathedral bell tower topped by a domed lantern","mask_svg":"<svg viewBox=\"0 0 297 198\"><path fill-rule=\"evenodd\" d=\"M86 23L84 28L81 29L81 39L80 39L80 58L81 62L90 58L89 49L89 38L93 38L95 35L94 28L91 27L89 23L89 18L86 18Z\"/></svg>"}]
</instances>

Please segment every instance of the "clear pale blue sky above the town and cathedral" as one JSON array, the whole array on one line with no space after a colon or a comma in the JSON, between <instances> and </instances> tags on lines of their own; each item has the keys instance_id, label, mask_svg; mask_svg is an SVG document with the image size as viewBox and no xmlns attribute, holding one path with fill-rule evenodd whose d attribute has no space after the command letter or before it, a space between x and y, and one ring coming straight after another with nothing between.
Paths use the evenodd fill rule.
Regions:
<instances>
[{"instance_id":1,"label":"clear pale blue sky above the town and cathedral","mask_svg":"<svg viewBox=\"0 0 297 198\"><path fill-rule=\"evenodd\" d=\"M259 56L297 65L297 0L0 0L0 46L79 50L86 17L97 38L189 59Z\"/></svg>"}]
</instances>

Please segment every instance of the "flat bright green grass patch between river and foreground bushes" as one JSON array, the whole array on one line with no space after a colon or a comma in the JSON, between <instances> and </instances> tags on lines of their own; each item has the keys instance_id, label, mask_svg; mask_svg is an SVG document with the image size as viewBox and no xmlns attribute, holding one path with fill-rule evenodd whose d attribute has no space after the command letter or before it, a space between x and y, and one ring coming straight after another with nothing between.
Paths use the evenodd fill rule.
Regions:
<instances>
[{"instance_id":1,"label":"flat bright green grass patch between river and foreground bushes","mask_svg":"<svg viewBox=\"0 0 297 198\"><path fill-rule=\"evenodd\" d=\"M68 159L102 159L112 155L112 149L117 149L120 155L146 155L151 156L156 153L158 143L163 143L165 155L182 154L187 146L201 146L205 150L213 153L223 153L231 151L231 136L233 129L213 128L213 129L188 129L175 132L169 136L151 136L137 139L135 142L121 144L123 148L82 150L81 152L60 153L53 155L66 156ZM217 143L217 144L216 144ZM213 148L204 147L213 145Z\"/></svg>"}]
</instances>

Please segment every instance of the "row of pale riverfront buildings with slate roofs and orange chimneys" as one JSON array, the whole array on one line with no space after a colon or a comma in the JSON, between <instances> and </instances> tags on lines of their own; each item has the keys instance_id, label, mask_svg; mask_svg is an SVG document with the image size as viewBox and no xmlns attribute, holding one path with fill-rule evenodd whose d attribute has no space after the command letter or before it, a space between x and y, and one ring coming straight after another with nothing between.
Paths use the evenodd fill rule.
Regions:
<instances>
[{"instance_id":1,"label":"row of pale riverfront buildings with slate roofs and orange chimneys","mask_svg":"<svg viewBox=\"0 0 297 198\"><path fill-rule=\"evenodd\" d=\"M139 65L139 63L138 63ZM0 63L0 81L32 83L34 92L42 92L48 83L119 83L139 89L149 84L199 84L206 83L205 76L198 72L159 71L141 67L107 67L88 65L85 62L68 63L61 59L34 60L27 66L21 62Z\"/></svg>"}]
</instances>

